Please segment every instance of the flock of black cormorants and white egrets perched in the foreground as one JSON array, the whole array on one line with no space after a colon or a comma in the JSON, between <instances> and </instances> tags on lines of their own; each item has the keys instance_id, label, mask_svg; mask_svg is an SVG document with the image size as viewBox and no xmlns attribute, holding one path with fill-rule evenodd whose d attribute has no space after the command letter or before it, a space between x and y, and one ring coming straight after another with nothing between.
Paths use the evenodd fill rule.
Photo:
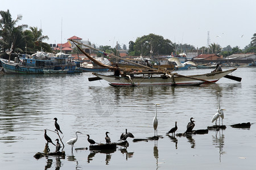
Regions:
<instances>
[{"instance_id":1,"label":"flock of black cormorants and white egrets perched in the foreground","mask_svg":"<svg viewBox=\"0 0 256 170\"><path fill-rule=\"evenodd\" d=\"M154 128L154 137L158 137L158 119L157 119L157 116L158 116L158 112L157 112L157 106L160 105L158 103L155 104L155 116L153 118L153 122L152 122L152 125L153 125L153 128ZM219 119L219 126L220 126L220 118L222 120L222 125L223 125L223 119L224 119L224 112L225 109L221 109L220 108L220 94L218 93L218 109L217 109L217 113L214 114L214 116L212 117L212 122L215 121L215 124L217 126L217 120ZM187 130L185 131L185 133L192 133L192 130L193 128L195 127L195 121L193 120L194 118L191 117L190 118L190 121L188 122L187 124ZM59 132L61 134L62 131L60 130L60 125L57 123L57 118L53 118L53 120L55 120L55 131L56 133L59 135ZM177 121L175 121L175 127L172 128L170 131L168 131L166 134L172 134L172 135L175 135L175 131L177 130ZM78 135L77 134L82 134L80 131L76 131L76 138L72 138L72 139L69 139L66 143L68 145L71 145L71 148L72 148L72 153L73 153L73 146L74 144L76 143L77 139L78 139ZM106 144L109 144L111 143L111 139L109 137L109 132L106 131L106 137L105 137L105 141L106 141ZM90 138L90 135L89 134L86 134L88 136L88 139L87 141L90 143L90 146L96 144L97 142L95 142L93 139ZM120 136L120 139L119 141L126 141L126 139L130 137L130 138L134 138L134 135L130 132L127 132L127 129L125 129L125 133L122 133L121 136ZM48 143L52 143L52 145L54 145L56 147L56 150L55 152L59 152L60 151L60 148L62 147L59 143L59 139L56 139L55 141L56 142L56 145L52 142L52 139L47 135L47 130L44 129L44 138L46 139L47 141L47 145ZM62 141L61 141L62 142ZM97 143L98 144L98 143Z\"/></svg>"}]
</instances>

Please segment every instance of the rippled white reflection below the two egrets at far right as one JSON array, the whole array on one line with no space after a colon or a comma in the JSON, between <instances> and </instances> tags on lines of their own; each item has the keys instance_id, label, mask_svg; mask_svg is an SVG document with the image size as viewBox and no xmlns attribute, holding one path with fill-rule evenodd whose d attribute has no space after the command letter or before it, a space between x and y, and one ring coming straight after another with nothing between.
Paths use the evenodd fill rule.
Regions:
<instances>
[{"instance_id":1,"label":"rippled white reflection below the two egrets at far right","mask_svg":"<svg viewBox=\"0 0 256 170\"><path fill-rule=\"evenodd\" d=\"M212 141L213 141L213 145L215 145L215 147L219 148L219 154L220 154L220 162L221 162L221 155L225 154L225 151L223 151L223 147L224 147L224 134L223 134L223 130L216 130L215 132L215 136L212 136Z\"/></svg>"}]
</instances>

